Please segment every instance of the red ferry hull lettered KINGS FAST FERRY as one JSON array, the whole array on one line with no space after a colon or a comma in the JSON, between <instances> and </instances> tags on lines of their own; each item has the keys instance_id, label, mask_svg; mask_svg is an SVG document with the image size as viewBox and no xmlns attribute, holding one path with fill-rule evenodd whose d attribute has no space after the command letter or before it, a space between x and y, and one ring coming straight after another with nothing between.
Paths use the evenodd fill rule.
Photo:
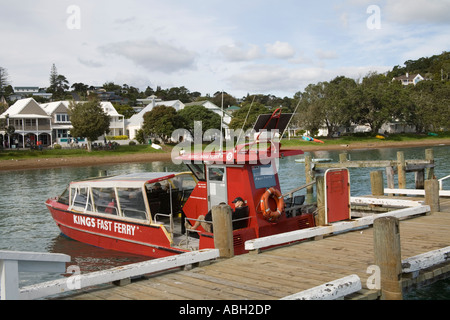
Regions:
<instances>
[{"instance_id":1,"label":"red ferry hull lettered KINGS FAST FERRY","mask_svg":"<svg viewBox=\"0 0 450 320\"><path fill-rule=\"evenodd\" d=\"M48 200L46 204L60 231L73 240L151 258L188 252L172 247L160 226L71 212L55 200Z\"/></svg>"}]
</instances>

